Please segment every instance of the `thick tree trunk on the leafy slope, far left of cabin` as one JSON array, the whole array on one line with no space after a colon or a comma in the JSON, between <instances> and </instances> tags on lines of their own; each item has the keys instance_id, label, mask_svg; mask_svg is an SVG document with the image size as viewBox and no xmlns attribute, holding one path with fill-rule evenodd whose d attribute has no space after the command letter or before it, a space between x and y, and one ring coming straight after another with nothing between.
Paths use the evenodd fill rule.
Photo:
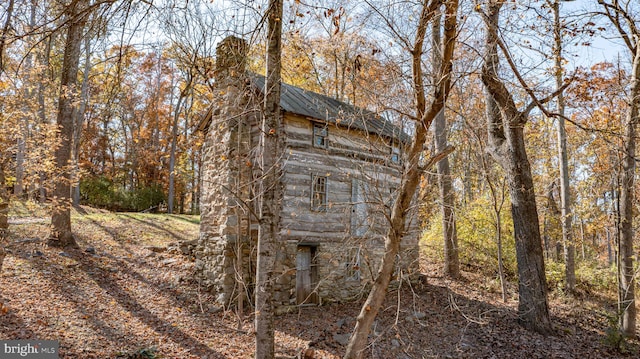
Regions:
<instances>
[{"instance_id":1,"label":"thick tree trunk on the leafy slope, far left of cabin","mask_svg":"<svg viewBox=\"0 0 640 359\"><path fill-rule=\"evenodd\" d=\"M85 15L82 14L82 1L73 1L67 8L69 19L65 40L64 59L60 79L60 99L58 102L57 124L59 129L58 147L55 151L55 164L59 170L53 190L51 215L51 236L49 245L55 247L77 247L71 232L71 145L73 121L75 119L76 83L80 62L80 44L84 28Z\"/></svg>"}]
</instances>

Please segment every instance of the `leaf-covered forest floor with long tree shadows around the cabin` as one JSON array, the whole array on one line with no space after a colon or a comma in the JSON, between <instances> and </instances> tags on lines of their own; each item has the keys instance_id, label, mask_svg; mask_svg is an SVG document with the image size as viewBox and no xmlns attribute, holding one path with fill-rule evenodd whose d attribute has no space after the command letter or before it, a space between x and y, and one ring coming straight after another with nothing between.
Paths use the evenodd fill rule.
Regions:
<instances>
[{"instance_id":1,"label":"leaf-covered forest floor with long tree shadows around the cabin","mask_svg":"<svg viewBox=\"0 0 640 359\"><path fill-rule=\"evenodd\" d=\"M0 274L0 339L59 340L60 358L251 358L252 317L212 305L176 243L198 235L198 217L74 211L80 249L48 248L46 213L12 210ZM445 280L425 265L419 285L391 291L374 325L368 358L624 358L638 342L611 346L612 299L552 295L556 334L517 324L477 271ZM362 301L304 307L277 317L276 351L339 358ZM607 340L609 338L609 340ZM155 354L151 354L155 351Z\"/></svg>"}]
</instances>

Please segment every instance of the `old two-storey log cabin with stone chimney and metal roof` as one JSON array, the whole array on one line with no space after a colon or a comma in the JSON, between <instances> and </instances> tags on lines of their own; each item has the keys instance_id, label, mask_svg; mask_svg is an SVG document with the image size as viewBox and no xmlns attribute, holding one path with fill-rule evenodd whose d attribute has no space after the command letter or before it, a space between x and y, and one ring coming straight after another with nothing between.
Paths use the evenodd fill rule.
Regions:
<instances>
[{"instance_id":1,"label":"old two-storey log cabin with stone chimney and metal roof","mask_svg":"<svg viewBox=\"0 0 640 359\"><path fill-rule=\"evenodd\" d=\"M220 305L251 298L265 79L246 71L247 44L217 46L216 99L199 129L202 157L199 283ZM382 116L282 84L283 191L274 305L342 302L366 295L384 251L408 136ZM418 273L415 215L407 216L396 279Z\"/></svg>"}]
</instances>

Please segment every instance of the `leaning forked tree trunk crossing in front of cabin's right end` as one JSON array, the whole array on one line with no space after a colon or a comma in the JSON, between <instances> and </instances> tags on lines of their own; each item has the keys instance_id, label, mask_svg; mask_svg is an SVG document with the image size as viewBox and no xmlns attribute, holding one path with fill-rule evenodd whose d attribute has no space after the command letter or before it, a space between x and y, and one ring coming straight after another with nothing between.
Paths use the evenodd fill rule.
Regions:
<instances>
[{"instance_id":1,"label":"leaning forked tree trunk crossing in front of cabin's right end","mask_svg":"<svg viewBox=\"0 0 640 359\"><path fill-rule=\"evenodd\" d=\"M411 146L407 151L407 161L403 162L404 174L402 176L402 183L400 185L398 197L396 198L391 211L390 227L385 238L385 253L382 257L382 262L378 269L371 291L369 292L369 296L363 304L360 314L356 320L356 326L344 355L345 359L362 358L364 355L364 349L367 345L371 325L382 306L387 288L389 287L391 275L393 274L395 259L400 250L400 242L405 233L406 215L411 206L411 201L418 186L420 175L424 170L424 168L419 167L419 161L422 153L422 147L427 139L427 129L437 114L444 108L444 104L449 95L451 87L453 51L455 48L455 38L457 34L458 1L450 0L445 1L444 3L446 5L446 10L444 41L442 44L442 63L438 69L435 69L435 72L438 74L439 81L436 81L437 86L434 88L432 98L433 102L431 103L428 111L426 110L426 96L422 82L423 44L429 21L435 15L436 10L440 7L442 2L433 1L429 4L423 4L416 39L412 50L413 86L416 95L416 113L418 115L417 117L419 122L416 125L416 133ZM446 153L443 153L443 155L445 154ZM438 156L436 156L430 164L427 164L427 167L430 167L430 165L433 165L433 163L437 162L439 159L442 158L438 158Z\"/></svg>"}]
</instances>

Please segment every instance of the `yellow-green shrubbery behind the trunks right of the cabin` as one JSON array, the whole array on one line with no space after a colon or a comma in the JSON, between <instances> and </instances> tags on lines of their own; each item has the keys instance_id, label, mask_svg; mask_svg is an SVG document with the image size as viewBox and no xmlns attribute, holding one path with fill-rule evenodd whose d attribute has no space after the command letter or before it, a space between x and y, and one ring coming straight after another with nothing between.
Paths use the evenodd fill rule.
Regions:
<instances>
[{"instance_id":1,"label":"yellow-green shrubbery behind the trunks right of the cabin","mask_svg":"<svg viewBox=\"0 0 640 359\"><path fill-rule=\"evenodd\" d=\"M482 270L494 275L498 272L498 244L496 220L491 199L483 196L456 210L456 228L460 263L463 267ZM517 272L513 221L508 207L501 211L502 259L505 274L513 277ZM442 215L429 218L428 228L422 236L422 249L431 258L443 260Z\"/></svg>"}]
</instances>

